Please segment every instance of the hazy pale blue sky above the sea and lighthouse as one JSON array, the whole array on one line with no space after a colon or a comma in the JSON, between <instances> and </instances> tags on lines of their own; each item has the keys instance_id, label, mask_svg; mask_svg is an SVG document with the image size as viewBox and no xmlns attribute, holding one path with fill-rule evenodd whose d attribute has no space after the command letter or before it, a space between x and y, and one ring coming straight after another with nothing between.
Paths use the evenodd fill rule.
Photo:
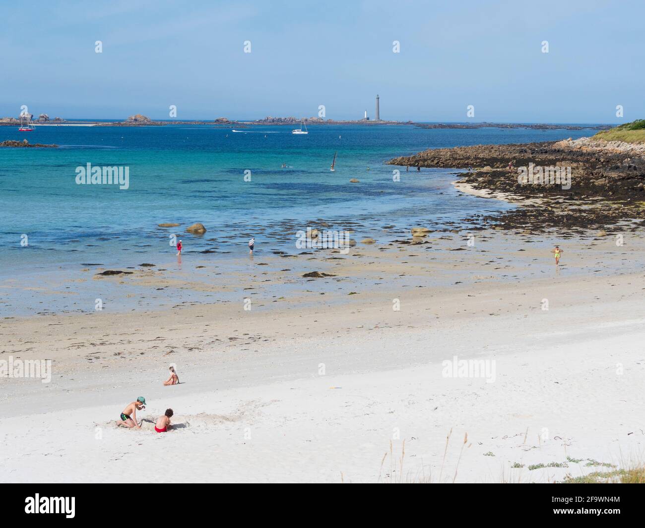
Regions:
<instances>
[{"instance_id":1,"label":"hazy pale blue sky above the sea and lighthouse","mask_svg":"<svg viewBox=\"0 0 645 528\"><path fill-rule=\"evenodd\" d=\"M627 122L645 118L644 15L642 0L5 2L0 116L26 104L168 119L174 104L177 119L259 119L324 104L361 119L379 93L381 119Z\"/></svg>"}]
</instances>

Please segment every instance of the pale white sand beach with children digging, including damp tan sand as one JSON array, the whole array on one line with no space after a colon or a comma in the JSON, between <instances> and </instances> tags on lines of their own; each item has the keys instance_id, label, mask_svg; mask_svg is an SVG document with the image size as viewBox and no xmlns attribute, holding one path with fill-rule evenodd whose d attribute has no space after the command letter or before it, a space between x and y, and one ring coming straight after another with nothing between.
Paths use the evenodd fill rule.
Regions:
<instances>
[{"instance_id":1,"label":"pale white sand beach with children digging, including damp tan sand","mask_svg":"<svg viewBox=\"0 0 645 528\"><path fill-rule=\"evenodd\" d=\"M50 383L0 379L0 480L554 482L628 467L645 446L645 280L633 269L643 246L630 237L620 248L612 237L571 240L555 269L531 237L504 235L533 262L521 279L473 273L479 251L454 253L448 266L416 246L404 253L424 273L461 284L397 284L401 269L411 284L416 272L391 249L383 269L379 260L337 269L381 286L352 279L348 295L317 279L329 285L315 293L324 302L3 319L0 359L54 364ZM521 273L500 239L486 249ZM625 269L602 273L608 265ZM446 360L488 370L449 377ZM170 363L181 384L164 387ZM143 428L116 427L137 396L148 403ZM176 427L155 433L168 407ZM531 467L549 464L561 467Z\"/></svg>"}]
</instances>

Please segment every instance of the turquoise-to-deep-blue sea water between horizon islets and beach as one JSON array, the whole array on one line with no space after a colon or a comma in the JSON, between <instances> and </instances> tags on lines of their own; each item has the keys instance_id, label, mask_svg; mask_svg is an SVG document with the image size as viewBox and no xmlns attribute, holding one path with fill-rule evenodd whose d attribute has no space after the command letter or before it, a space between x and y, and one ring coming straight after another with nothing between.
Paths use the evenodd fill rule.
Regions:
<instances>
[{"instance_id":1,"label":"turquoise-to-deep-blue sea water between horizon islets and beach","mask_svg":"<svg viewBox=\"0 0 645 528\"><path fill-rule=\"evenodd\" d=\"M217 259L246 254L250 235L259 255L268 249L297 253L293 231L320 220L330 229L355 228L359 237L385 225L441 228L510 206L453 190L455 170L403 168L394 182L395 167L386 160L426 148L591 133L359 125L310 126L308 135L292 135L285 126L237 130L244 132L210 125L37 126L29 133L0 127L0 141L26 137L61 146L0 150L0 277L87 263L115 268L163 262L174 248L172 230L157 228L161 222L182 224L175 233L187 255L209 251ZM87 163L127 166L129 188L76 184L76 168ZM250 182L244 181L246 170ZM183 233L194 222L206 226L206 235Z\"/></svg>"}]
</instances>

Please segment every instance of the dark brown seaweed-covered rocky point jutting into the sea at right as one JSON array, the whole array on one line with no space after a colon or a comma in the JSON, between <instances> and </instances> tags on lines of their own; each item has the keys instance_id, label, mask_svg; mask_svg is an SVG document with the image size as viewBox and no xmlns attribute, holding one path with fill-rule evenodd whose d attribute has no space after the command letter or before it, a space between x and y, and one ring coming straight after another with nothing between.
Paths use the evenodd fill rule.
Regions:
<instances>
[{"instance_id":1,"label":"dark brown seaweed-covered rocky point jutting into the sea at right","mask_svg":"<svg viewBox=\"0 0 645 528\"><path fill-rule=\"evenodd\" d=\"M599 229L645 221L645 144L581 139L527 144L475 145L426 150L387 162L410 167L467 169L458 183L493 191L508 201L532 199L502 215L482 217L482 227L544 231ZM520 182L526 171L569 171L562 182ZM524 172L522 172L524 171ZM471 221L473 219L464 219Z\"/></svg>"}]
</instances>

